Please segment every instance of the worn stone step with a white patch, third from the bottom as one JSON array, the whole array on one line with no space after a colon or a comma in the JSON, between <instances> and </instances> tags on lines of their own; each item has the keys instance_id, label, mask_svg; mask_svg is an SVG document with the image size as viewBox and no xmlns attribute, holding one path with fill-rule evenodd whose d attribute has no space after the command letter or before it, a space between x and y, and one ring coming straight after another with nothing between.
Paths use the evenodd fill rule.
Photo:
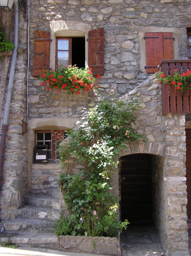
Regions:
<instances>
[{"instance_id":1,"label":"worn stone step with a white patch, third from the bottom","mask_svg":"<svg viewBox=\"0 0 191 256\"><path fill-rule=\"evenodd\" d=\"M17 218L29 218L29 219L59 219L59 210L44 208L36 205L24 205L17 210Z\"/></svg>"}]
</instances>

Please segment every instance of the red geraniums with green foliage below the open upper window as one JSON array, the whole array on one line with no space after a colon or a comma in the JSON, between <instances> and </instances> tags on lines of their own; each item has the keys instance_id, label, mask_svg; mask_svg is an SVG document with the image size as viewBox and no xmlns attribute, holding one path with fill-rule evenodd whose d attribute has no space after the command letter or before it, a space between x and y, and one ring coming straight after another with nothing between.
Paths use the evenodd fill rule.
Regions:
<instances>
[{"instance_id":1,"label":"red geraniums with green foliage below the open upper window","mask_svg":"<svg viewBox=\"0 0 191 256\"><path fill-rule=\"evenodd\" d=\"M98 88L98 80L91 75L91 68L78 68L76 65L68 65L66 68L60 66L59 69L47 71L40 75L41 85L47 90L65 90L68 94L80 94L80 90L89 91ZM97 76L100 78L100 75Z\"/></svg>"}]
</instances>

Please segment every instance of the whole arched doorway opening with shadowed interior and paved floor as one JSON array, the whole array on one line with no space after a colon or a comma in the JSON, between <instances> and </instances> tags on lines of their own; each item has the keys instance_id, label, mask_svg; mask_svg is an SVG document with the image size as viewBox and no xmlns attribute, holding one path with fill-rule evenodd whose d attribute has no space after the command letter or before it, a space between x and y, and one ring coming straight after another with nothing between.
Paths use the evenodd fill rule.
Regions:
<instances>
[{"instance_id":1,"label":"whole arched doorway opening with shadowed interior and paved floor","mask_svg":"<svg viewBox=\"0 0 191 256\"><path fill-rule=\"evenodd\" d=\"M163 255L162 198L164 157L148 153L122 156L119 168L121 220L130 222L123 230L121 250L132 255ZM160 242L161 241L161 242Z\"/></svg>"}]
</instances>

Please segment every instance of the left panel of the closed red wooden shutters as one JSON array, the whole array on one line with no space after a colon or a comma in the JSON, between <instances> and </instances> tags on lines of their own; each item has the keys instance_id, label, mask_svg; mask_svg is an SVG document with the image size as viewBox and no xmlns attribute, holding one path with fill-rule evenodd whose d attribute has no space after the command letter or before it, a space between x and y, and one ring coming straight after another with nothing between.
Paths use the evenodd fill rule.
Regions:
<instances>
[{"instance_id":1,"label":"left panel of the closed red wooden shutters","mask_svg":"<svg viewBox=\"0 0 191 256\"><path fill-rule=\"evenodd\" d=\"M145 33L147 73L158 72L158 65L163 60L162 32ZM150 67L150 68L149 68Z\"/></svg>"}]
</instances>

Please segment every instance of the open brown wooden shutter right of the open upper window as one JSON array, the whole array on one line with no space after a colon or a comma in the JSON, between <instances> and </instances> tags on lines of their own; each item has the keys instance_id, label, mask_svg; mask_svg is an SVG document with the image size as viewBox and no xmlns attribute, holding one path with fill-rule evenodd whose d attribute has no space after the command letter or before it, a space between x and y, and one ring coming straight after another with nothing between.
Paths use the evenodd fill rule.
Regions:
<instances>
[{"instance_id":1,"label":"open brown wooden shutter right of the open upper window","mask_svg":"<svg viewBox=\"0 0 191 256\"><path fill-rule=\"evenodd\" d=\"M89 31L88 65L93 75L104 75L104 28Z\"/></svg>"}]
</instances>

